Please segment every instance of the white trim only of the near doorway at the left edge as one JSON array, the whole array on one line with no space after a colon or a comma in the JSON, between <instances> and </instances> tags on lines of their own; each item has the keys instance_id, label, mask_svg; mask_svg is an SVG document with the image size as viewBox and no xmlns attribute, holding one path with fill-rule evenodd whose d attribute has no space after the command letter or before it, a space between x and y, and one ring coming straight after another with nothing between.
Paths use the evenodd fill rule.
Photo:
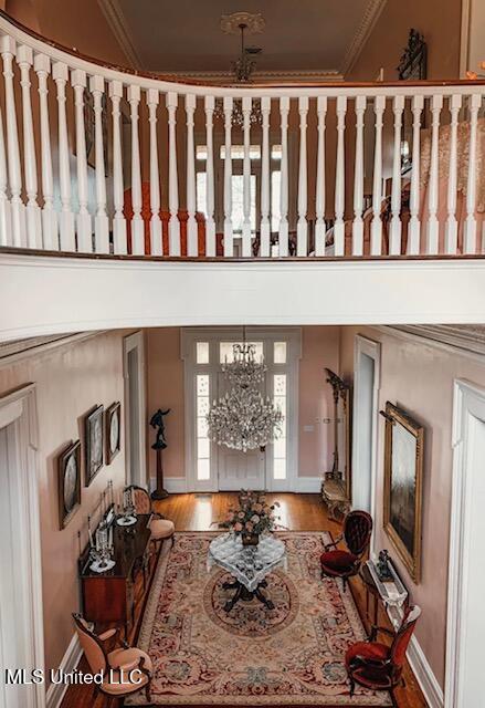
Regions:
<instances>
[{"instance_id":1,"label":"white trim only of the near doorway at the left edge","mask_svg":"<svg viewBox=\"0 0 485 708\"><path fill-rule=\"evenodd\" d=\"M13 424L19 449L15 494L20 523L17 524L20 592L28 615L25 648L29 665L44 668L44 618L42 605L41 525L39 512L39 456L35 385L28 384L0 397L0 425ZM20 490L20 493L19 493ZM14 668L14 667L12 667ZM44 708L45 686L36 684L29 694L28 708Z\"/></svg>"}]
</instances>

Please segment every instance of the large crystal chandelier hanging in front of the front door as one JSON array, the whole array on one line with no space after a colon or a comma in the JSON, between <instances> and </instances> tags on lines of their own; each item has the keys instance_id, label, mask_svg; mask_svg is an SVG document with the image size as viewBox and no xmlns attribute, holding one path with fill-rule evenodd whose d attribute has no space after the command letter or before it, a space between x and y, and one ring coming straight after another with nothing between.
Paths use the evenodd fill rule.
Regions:
<instances>
[{"instance_id":1,"label":"large crystal chandelier hanging in front of the front door","mask_svg":"<svg viewBox=\"0 0 485 708\"><path fill-rule=\"evenodd\" d=\"M208 436L218 445L234 450L263 448L283 431L283 414L270 396L263 398L260 385L267 367L256 362L254 344L234 344L233 361L222 372L231 389L210 409Z\"/></svg>"}]
</instances>

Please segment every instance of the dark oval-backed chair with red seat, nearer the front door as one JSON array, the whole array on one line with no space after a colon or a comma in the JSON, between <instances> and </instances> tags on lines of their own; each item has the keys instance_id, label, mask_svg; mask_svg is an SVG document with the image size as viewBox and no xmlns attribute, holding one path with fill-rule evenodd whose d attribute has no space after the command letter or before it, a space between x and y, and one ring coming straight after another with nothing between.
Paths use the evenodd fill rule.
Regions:
<instances>
[{"instance_id":1,"label":"dark oval-backed chair with red seat, nearer the front door","mask_svg":"<svg viewBox=\"0 0 485 708\"><path fill-rule=\"evenodd\" d=\"M350 511L344 520L342 534L333 543L325 545L320 555L321 577L341 577L344 590L349 577L357 575L363 554L369 548L372 533L372 518L367 511ZM347 551L337 549L337 543L345 541ZM334 549L334 550L330 550Z\"/></svg>"}]
</instances>

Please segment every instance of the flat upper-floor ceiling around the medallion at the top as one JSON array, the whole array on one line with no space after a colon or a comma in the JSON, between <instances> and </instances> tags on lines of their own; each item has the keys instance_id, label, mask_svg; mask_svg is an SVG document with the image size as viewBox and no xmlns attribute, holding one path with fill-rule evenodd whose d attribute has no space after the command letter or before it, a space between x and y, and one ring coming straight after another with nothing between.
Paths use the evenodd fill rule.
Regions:
<instances>
[{"instance_id":1,"label":"flat upper-floor ceiling around the medallion at the top","mask_svg":"<svg viewBox=\"0 0 485 708\"><path fill-rule=\"evenodd\" d=\"M266 27L247 38L261 46L262 74L341 74L355 60L386 0L99 0L137 69L224 73L239 39L223 34L222 14L261 12Z\"/></svg>"}]
</instances>

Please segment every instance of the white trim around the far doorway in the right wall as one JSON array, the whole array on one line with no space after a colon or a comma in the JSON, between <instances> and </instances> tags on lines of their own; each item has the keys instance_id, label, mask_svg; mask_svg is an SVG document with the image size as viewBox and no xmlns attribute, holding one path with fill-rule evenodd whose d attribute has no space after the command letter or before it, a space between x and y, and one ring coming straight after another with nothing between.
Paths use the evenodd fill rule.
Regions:
<instances>
[{"instance_id":1,"label":"white trim around the far doorway in the right wall","mask_svg":"<svg viewBox=\"0 0 485 708\"><path fill-rule=\"evenodd\" d=\"M379 391L380 391L380 358L381 345L379 342L369 340L361 334L357 334L354 343L354 431L352 431L352 475L357 466L357 439L359 435L359 377L360 356L366 354L373 360L373 394L372 394L372 440L371 440L371 486L370 486L370 516L376 524L376 498L377 498L377 460L378 460L378 430L379 430ZM376 534L371 537L371 551L375 551Z\"/></svg>"}]
</instances>

